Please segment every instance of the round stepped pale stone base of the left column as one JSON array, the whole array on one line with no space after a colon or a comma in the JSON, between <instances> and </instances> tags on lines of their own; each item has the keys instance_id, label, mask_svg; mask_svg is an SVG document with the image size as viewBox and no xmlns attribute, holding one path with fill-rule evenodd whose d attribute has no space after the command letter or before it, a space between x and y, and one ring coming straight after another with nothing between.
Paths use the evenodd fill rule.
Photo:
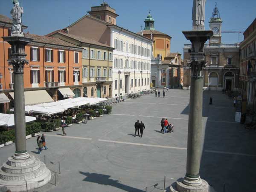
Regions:
<instances>
[{"instance_id":1,"label":"round stepped pale stone base of the left column","mask_svg":"<svg viewBox=\"0 0 256 192\"><path fill-rule=\"evenodd\" d=\"M23 192L44 186L51 179L51 172L43 162L28 153L9 157L0 168L0 188Z\"/></svg>"}]
</instances>

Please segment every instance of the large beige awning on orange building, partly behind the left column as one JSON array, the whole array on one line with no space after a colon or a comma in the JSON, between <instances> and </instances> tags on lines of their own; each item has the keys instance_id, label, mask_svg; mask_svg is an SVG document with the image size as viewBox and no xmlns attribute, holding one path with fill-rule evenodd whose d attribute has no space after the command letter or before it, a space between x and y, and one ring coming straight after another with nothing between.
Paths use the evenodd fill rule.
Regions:
<instances>
[{"instance_id":1,"label":"large beige awning on orange building, partly behind the left column","mask_svg":"<svg viewBox=\"0 0 256 192\"><path fill-rule=\"evenodd\" d=\"M14 99L14 92L9 93ZM25 105L35 105L39 103L53 102L52 97L47 93L46 90L36 90L24 92Z\"/></svg>"}]
</instances>

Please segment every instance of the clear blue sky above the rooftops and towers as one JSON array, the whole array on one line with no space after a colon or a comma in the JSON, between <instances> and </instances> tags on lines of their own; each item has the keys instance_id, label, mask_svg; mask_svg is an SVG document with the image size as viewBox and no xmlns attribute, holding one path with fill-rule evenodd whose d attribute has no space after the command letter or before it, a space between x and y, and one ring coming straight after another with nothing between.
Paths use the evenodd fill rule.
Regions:
<instances>
[{"instance_id":1,"label":"clear blue sky above the rooftops and towers","mask_svg":"<svg viewBox=\"0 0 256 192\"><path fill-rule=\"evenodd\" d=\"M155 20L155 29L169 34L171 52L183 54L183 45L189 43L182 30L191 30L192 0L106 0L116 9L117 25L139 32L144 26L144 19L151 10ZM207 0L206 25L215 7L216 0ZM20 0L19 0L20 2ZM56 29L67 27L90 11L91 6L98 6L102 0L21 0L24 8L23 23L32 34L45 35ZM244 31L256 17L256 0L217 0L223 20L222 30ZM10 17L12 0L0 0L0 14ZM90 26L88 26L90 27ZM223 43L242 41L243 35L222 34Z\"/></svg>"}]
</instances>

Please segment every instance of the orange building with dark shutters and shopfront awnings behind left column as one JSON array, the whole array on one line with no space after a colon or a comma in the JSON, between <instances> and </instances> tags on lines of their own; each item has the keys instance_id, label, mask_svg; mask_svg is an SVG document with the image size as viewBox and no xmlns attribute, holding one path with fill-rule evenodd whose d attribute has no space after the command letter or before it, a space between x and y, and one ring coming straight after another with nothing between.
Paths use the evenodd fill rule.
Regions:
<instances>
[{"instance_id":1,"label":"orange building with dark shutters and shopfront awnings behind left column","mask_svg":"<svg viewBox=\"0 0 256 192\"><path fill-rule=\"evenodd\" d=\"M11 46L3 40L10 35L12 20L0 15L0 92L13 99L13 68L7 60ZM82 48L55 37L25 34L33 38L25 48L29 64L24 66L25 104L37 104L82 96ZM31 99L32 98L32 99ZM1 102L1 101L0 101ZM9 109L0 104L0 112Z\"/></svg>"}]
</instances>

